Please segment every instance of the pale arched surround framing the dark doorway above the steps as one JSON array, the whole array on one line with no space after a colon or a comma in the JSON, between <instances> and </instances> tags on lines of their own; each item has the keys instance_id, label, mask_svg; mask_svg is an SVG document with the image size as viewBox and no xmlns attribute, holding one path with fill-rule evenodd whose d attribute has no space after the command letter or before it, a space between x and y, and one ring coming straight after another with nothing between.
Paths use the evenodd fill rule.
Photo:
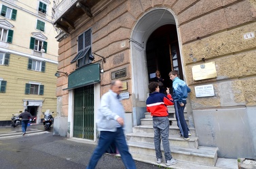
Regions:
<instances>
[{"instance_id":1,"label":"pale arched surround framing the dark doorway above the steps","mask_svg":"<svg viewBox=\"0 0 256 169\"><path fill-rule=\"evenodd\" d=\"M158 28L168 28L172 26L176 30L175 37L177 39L177 51L179 50L179 30L177 29L177 17L170 9L158 7L153 8L144 14L135 24L132 29L130 37L130 53L131 53L131 68L132 68L132 113L133 125L140 124L141 118L145 117L145 101L147 99L149 90L149 69L147 65L147 43L150 42L150 37L158 30ZM167 25L167 27L165 27ZM168 30L168 29L167 29ZM168 31L166 31L168 32ZM148 47L150 49L150 47ZM152 49L152 48L151 48ZM182 63L182 57L180 57ZM164 71L170 72L170 64L165 64ZM182 72L182 64L179 70L180 75ZM151 72L151 70L150 70ZM156 72L156 70L154 70ZM166 74L164 72L164 74Z\"/></svg>"}]
</instances>

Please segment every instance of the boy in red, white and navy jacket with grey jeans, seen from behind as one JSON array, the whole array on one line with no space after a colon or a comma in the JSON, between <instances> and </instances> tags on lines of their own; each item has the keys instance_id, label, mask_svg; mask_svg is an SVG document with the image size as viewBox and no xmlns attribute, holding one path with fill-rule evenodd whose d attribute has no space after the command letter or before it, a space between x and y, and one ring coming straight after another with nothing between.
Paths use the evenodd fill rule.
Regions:
<instances>
[{"instance_id":1,"label":"boy in red, white and navy jacket with grey jeans, seen from behind","mask_svg":"<svg viewBox=\"0 0 256 169\"><path fill-rule=\"evenodd\" d=\"M162 151L160 148L161 137L162 144L164 147L164 158L166 161L166 166L177 164L177 160L172 158L170 153L170 143L169 143L169 126L170 122L168 119L168 109L166 105L173 105L172 96L170 95L169 88L167 88L167 96L163 93L159 93L158 82L149 83L149 97L147 98L147 112L151 113L153 116L153 130L154 130L154 144L156 151L157 163L160 164L163 161Z\"/></svg>"}]
</instances>

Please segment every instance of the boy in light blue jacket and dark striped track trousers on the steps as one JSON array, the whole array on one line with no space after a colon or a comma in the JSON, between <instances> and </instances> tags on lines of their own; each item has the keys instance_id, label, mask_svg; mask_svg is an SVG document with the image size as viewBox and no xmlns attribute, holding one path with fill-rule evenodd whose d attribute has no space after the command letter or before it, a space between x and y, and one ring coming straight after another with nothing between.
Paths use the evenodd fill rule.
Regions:
<instances>
[{"instance_id":1,"label":"boy in light blue jacket and dark striped track trousers on the steps","mask_svg":"<svg viewBox=\"0 0 256 169\"><path fill-rule=\"evenodd\" d=\"M171 71L169 76L170 80L172 80L172 97L175 100L175 116L177 124L179 126L181 137L188 141L191 134L184 117L184 109L187 103L187 93L190 93L191 90L187 87L187 84L178 77L178 72L176 70Z\"/></svg>"}]
</instances>

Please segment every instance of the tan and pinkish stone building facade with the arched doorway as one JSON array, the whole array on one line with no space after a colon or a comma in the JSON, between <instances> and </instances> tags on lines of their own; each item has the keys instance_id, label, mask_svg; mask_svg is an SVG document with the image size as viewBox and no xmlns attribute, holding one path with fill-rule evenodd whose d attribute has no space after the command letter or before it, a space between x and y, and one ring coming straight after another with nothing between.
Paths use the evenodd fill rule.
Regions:
<instances>
[{"instance_id":1,"label":"tan and pinkish stone building facade with the arched doorway","mask_svg":"<svg viewBox=\"0 0 256 169\"><path fill-rule=\"evenodd\" d=\"M80 93L76 90L92 85L95 141L100 96L115 79L124 82L126 132L132 132L145 116L147 85L153 73L160 70L166 87L171 87L168 72L179 70L191 88L187 117L199 145L219 147L218 156L223 158L256 157L256 1L75 1L66 13L58 13L64 2L56 6L54 24L63 31L57 37L58 70L69 76L57 80L56 134L76 137L75 123L84 121L75 120L76 95ZM79 37L86 31L91 32L90 43L82 48L84 55L77 55ZM87 62L79 66L82 57ZM209 63L214 65L211 72L215 76L193 72ZM88 73L90 65L98 66L99 71ZM94 81L83 80L90 76L96 76ZM196 87L204 85L213 87L213 95L196 96Z\"/></svg>"}]
</instances>

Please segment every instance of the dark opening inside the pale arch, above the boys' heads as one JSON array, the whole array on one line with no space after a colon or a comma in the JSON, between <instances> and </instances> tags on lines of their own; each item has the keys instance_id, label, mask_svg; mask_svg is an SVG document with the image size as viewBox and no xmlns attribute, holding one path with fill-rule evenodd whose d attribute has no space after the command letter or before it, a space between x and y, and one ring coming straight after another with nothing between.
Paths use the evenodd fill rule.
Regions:
<instances>
[{"instance_id":1,"label":"dark opening inside the pale arch, above the boys' heads","mask_svg":"<svg viewBox=\"0 0 256 169\"><path fill-rule=\"evenodd\" d=\"M168 73L177 70L183 79L176 25L166 24L157 28L147 41L146 55L149 82L154 81L155 72L159 70L164 87L169 87L172 93L172 80Z\"/></svg>"}]
</instances>

